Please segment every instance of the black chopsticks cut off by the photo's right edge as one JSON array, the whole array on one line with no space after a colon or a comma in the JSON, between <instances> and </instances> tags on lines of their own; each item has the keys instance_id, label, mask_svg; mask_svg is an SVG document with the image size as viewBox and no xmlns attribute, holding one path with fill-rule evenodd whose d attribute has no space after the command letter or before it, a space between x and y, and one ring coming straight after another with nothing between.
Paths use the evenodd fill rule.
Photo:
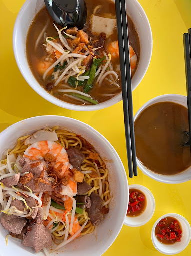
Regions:
<instances>
[{"instance_id":1,"label":"black chopsticks cut off by the photo's right edge","mask_svg":"<svg viewBox=\"0 0 191 256\"><path fill-rule=\"evenodd\" d=\"M188 108L188 121L189 121L189 133L185 132L189 135L189 142L187 145L190 146L191 140L191 115L190 115L190 108L191 108L191 29L188 30L188 33L183 34L183 44L184 44L184 58L185 58L185 75L186 75L186 87L187 87L187 108Z\"/></svg>"}]
</instances>

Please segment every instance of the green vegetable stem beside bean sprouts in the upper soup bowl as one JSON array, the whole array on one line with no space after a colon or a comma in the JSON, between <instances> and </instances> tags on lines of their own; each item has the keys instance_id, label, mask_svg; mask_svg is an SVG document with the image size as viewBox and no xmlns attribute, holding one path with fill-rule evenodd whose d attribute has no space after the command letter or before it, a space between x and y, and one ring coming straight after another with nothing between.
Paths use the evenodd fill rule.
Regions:
<instances>
[{"instance_id":1,"label":"green vegetable stem beside bean sprouts in the upper soup bowl","mask_svg":"<svg viewBox=\"0 0 191 256\"><path fill-rule=\"evenodd\" d=\"M93 81L95 78L95 73L97 71L97 66L105 59L106 59L106 56L102 57L101 59L96 59L96 58L93 59L93 64L91 65L91 69L89 73L89 79L87 80L87 83L84 86L85 93L88 93L93 88Z\"/></svg>"}]
</instances>

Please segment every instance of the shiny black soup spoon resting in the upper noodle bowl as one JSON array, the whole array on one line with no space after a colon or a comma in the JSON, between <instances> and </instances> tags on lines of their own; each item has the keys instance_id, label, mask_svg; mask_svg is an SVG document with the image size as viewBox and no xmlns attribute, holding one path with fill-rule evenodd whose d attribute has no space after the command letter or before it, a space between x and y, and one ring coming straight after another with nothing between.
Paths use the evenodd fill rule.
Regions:
<instances>
[{"instance_id":1,"label":"shiny black soup spoon resting in the upper noodle bowl","mask_svg":"<svg viewBox=\"0 0 191 256\"><path fill-rule=\"evenodd\" d=\"M53 20L61 27L82 29L87 19L87 7L84 0L44 0Z\"/></svg>"}]
</instances>

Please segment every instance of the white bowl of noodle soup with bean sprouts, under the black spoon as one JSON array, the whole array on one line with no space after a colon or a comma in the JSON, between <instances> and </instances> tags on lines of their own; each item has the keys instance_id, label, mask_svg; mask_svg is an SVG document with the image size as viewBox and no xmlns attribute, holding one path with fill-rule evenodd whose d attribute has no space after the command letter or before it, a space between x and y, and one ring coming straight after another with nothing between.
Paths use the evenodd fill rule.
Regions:
<instances>
[{"instance_id":1,"label":"white bowl of noodle soup with bean sprouts, under the black spoon","mask_svg":"<svg viewBox=\"0 0 191 256\"><path fill-rule=\"evenodd\" d=\"M132 90L144 77L152 53L152 33L138 1L126 0ZM44 1L27 0L14 27L17 65L43 98L63 108L91 111L122 100L115 4L86 0L81 30L61 28Z\"/></svg>"}]
</instances>

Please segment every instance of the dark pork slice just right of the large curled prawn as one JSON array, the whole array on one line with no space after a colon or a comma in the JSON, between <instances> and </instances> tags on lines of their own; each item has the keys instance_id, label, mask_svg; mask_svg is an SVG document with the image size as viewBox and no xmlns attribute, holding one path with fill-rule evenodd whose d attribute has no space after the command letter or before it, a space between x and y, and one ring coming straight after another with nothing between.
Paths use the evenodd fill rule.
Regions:
<instances>
[{"instance_id":1,"label":"dark pork slice just right of the large curled prawn","mask_svg":"<svg viewBox=\"0 0 191 256\"><path fill-rule=\"evenodd\" d=\"M81 153L80 150L71 147L67 150L67 154L69 157L69 163L73 166L73 168L76 168L78 171L81 171L81 164L85 159L83 153Z\"/></svg>"}]
</instances>

